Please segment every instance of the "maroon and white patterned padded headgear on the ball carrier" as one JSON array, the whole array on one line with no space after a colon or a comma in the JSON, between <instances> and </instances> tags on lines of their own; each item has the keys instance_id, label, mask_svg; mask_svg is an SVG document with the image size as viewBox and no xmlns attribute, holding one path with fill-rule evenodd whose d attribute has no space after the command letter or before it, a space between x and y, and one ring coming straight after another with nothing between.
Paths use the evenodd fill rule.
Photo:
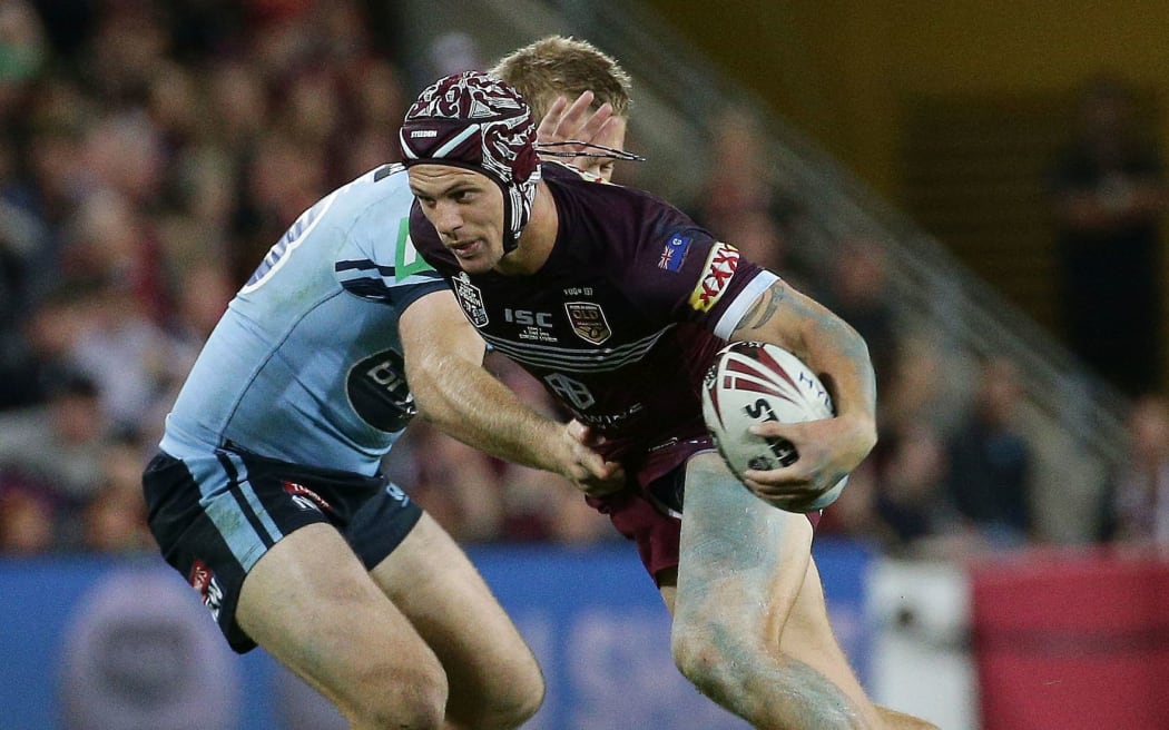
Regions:
<instances>
[{"instance_id":1,"label":"maroon and white patterned padded headgear on the ball carrier","mask_svg":"<svg viewBox=\"0 0 1169 730\"><path fill-rule=\"evenodd\" d=\"M406 112L399 144L406 167L465 167L499 185L504 252L516 249L540 181L535 124L518 91L482 71L441 78Z\"/></svg>"}]
</instances>

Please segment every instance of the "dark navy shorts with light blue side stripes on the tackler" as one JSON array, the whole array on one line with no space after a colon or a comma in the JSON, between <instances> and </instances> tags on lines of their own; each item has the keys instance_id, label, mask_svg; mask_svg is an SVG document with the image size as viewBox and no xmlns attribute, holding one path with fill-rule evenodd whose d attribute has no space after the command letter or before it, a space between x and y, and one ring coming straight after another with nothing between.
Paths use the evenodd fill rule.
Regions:
<instances>
[{"instance_id":1,"label":"dark navy shorts with light blue side stripes on the tackler","mask_svg":"<svg viewBox=\"0 0 1169 730\"><path fill-rule=\"evenodd\" d=\"M159 452L143 473L143 488L162 556L199 591L241 654L256 644L235 623L240 588L282 537L326 522L373 569L422 516L385 477L288 464L241 450L182 460Z\"/></svg>"}]
</instances>

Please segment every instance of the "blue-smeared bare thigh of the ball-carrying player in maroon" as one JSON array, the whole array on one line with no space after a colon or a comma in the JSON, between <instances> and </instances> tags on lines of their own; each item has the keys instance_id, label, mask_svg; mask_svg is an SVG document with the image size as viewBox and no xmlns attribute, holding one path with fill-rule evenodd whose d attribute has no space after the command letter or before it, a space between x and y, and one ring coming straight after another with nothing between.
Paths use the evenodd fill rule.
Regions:
<instances>
[{"instance_id":1,"label":"blue-smeared bare thigh of the ball-carrying player in maroon","mask_svg":"<svg viewBox=\"0 0 1169 730\"><path fill-rule=\"evenodd\" d=\"M676 621L717 619L777 640L803 585L811 535L804 515L758 499L718 456L696 456L686 473Z\"/></svg>"}]
</instances>

